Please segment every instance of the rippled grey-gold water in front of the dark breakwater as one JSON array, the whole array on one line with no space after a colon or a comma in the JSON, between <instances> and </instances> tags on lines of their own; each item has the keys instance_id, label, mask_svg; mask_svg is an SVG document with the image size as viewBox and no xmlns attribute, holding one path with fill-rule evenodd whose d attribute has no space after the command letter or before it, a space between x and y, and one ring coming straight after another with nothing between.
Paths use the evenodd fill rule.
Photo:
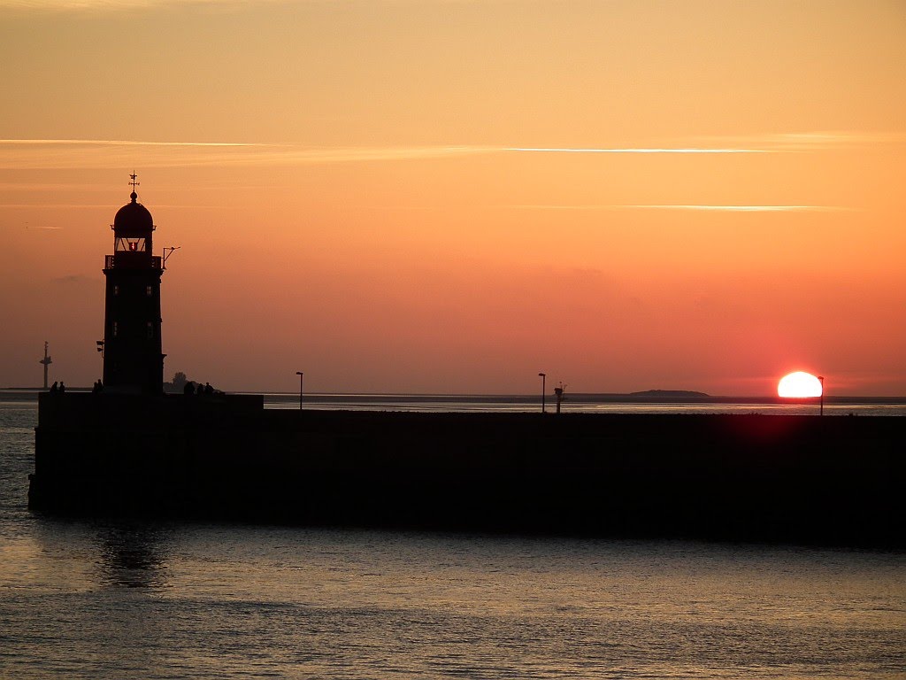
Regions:
<instances>
[{"instance_id":1,"label":"rippled grey-gold water in front of the dark breakwater","mask_svg":"<svg viewBox=\"0 0 906 680\"><path fill-rule=\"evenodd\" d=\"M906 677L906 556L46 520L0 403L0 677Z\"/></svg>"}]
</instances>

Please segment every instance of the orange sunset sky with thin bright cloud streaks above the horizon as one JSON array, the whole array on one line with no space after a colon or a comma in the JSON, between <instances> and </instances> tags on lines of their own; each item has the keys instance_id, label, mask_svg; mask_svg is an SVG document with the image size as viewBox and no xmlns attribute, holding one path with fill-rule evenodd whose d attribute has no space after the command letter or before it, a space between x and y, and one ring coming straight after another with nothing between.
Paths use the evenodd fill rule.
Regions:
<instances>
[{"instance_id":1,"label":"orange sunset sky with thin bright cloud streaks above the horizon","mask_svg":"<svg viewBox=\"0 0 906 680\"><path fill-rule=\"evenodd\" d=\"M906 4L0 0L0 386L906 395Z\"/></svg>"}]
</instances>

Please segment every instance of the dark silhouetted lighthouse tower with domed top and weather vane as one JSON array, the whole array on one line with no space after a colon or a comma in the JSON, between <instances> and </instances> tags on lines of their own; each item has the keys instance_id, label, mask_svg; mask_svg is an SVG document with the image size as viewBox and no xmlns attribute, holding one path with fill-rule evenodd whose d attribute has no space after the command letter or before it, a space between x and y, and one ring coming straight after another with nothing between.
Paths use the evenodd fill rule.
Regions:
<instances>
[{"instance_id":1,"label":"dark silhouetted lighthouse tower with domed top and weather vane","mask_svg":"<svg viewBox=\"0 0 906 680\"><path fill-rule=\"evenodd\" d=\"M130 202L113 219L113 254L104 258L104 390L163 393L164 356L160 342L161 257L154 256L154 220L138 202L130 175Z\"/></svg>"}]
</instances>

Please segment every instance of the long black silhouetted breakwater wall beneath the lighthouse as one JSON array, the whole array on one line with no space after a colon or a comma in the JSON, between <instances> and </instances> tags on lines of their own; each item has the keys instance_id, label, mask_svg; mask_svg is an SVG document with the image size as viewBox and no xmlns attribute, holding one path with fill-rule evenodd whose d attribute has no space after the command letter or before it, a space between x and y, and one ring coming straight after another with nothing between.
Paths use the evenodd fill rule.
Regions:
<instances>
[{"instance_id":1,"label":"long black silhouetted breakwater wall beneath the lighthouse","mask_svg":"<svg viewBox=\"0 0 906 680\"><path fill-rule=\"evenodd\" d=\"M33 510L902 549L906 419L41 394Z\"/></svg>"}]
</instances>

